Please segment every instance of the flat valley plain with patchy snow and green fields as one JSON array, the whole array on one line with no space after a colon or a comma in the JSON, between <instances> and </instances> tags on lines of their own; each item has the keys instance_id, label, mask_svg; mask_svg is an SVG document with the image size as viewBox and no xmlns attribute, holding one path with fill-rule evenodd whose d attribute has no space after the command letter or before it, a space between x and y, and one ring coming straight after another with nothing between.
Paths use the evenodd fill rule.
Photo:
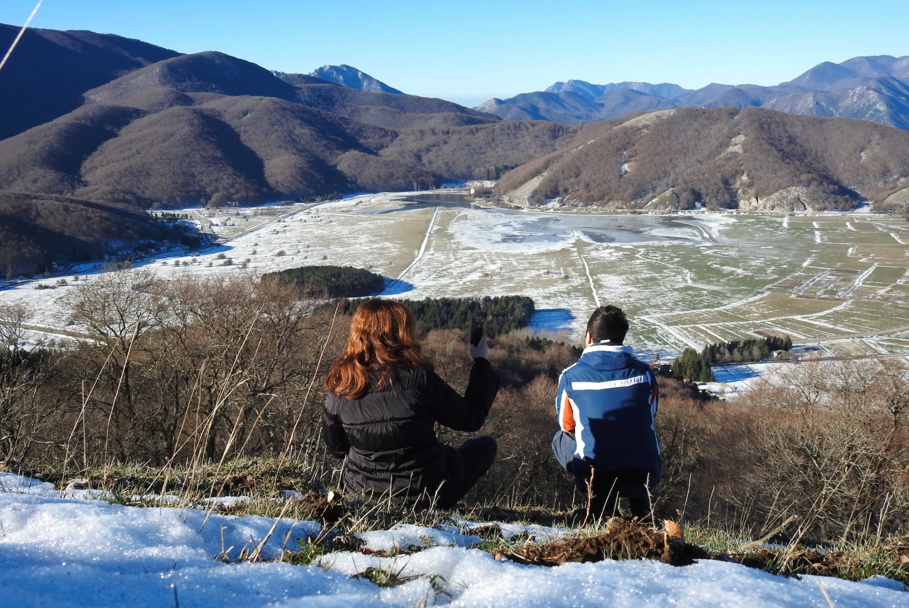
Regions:
<instances>
[{"instance_id":1,"label":"flat valley plain with patchy snow and green fields","mask_svg":"<svg viewBox=\"0 0 909 608\"><path fill-rule=\"evenodd\" d=\"M764 334L831 354L909 354L899 216L515 211L426 193L266 209L181 210L219 241L136 265L164 278L354 265L388 277L388 296L526 294L542 311L534 332L575 341L596 304L617 304L632 320L628 343L662 358ZM71 275L96 272L10 284L0 304L28 305L50 333L77 331L61 297Z\"/></svg>"}]
</instances>

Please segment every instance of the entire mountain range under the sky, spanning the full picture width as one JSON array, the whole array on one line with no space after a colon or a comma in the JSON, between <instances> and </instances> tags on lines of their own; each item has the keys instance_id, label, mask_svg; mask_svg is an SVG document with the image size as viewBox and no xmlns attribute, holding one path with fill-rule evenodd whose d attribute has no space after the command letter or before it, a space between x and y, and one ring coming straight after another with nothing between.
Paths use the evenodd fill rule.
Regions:
<instances>
[{"instance_id":1,"label":"entire mountain range under the sky, spanning the full picture width","mask_svg":"<svg viewBox=\"0 0 909 608\"><path fill-rule=\"evenodd\" d=\"M13 35L0 25L0 45ZM906 58L862 57L776 87L567 81L470 109L346 65L282 74L215 51L29 30L0 72L0 263L41 270L111 240L183 238L135 213L148 208L500 175L512 204L900 208L909 131L869 120L902 125L906 71ZM863 103L868 120L793 114Z\"/></svg>"}]
</instances>

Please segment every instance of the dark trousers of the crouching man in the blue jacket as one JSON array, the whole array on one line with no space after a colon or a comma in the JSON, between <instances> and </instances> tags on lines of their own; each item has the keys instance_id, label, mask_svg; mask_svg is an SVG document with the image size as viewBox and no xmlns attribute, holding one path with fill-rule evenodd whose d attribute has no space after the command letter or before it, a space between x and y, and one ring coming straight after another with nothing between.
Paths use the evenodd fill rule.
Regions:
<instances>
[{"instance_id":1,"label":"dark trousers of the crouching man in the blue jacket","mask_svg":"<svg viewBox=\"0 0 909 608\"><path fill-rule=\"evenodd\" d=\"M556 432L553 437L553 452L565 471L574 477L577 489L587 496L587 483L593 476L590 501L590 513L594 517L612 517L618 514L619 498L627 498L631 514L634 517L646 517L650 514L650 497L648 485L653 487L659 482L659 472L648 469L623 469L618 471L594 470L590 464L577 457L574 451L577 442L574 434L564 431Z\"/></svg>"}]
</instances>

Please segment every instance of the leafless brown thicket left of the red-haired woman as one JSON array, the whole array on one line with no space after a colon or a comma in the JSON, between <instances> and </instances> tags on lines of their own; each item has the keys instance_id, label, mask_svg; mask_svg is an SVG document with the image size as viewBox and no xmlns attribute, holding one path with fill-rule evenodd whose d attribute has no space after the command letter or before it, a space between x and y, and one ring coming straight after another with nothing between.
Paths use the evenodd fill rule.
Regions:
<instances>
[{"instance_id":1,"label":"leafless brown thicket left of the red-haired woman","mask_svg":"<svg viewBox=\"0 0 909 608\"><path fill-rule=\"evenodd\" d=\"M315 451L313 386L340 347L334 306L246 274L165 284L144 271L102 274L67 302L94 340L54 354L60 369L37 395L57 418L33 456L88 466Z\"/></svg>"}]
</instances>

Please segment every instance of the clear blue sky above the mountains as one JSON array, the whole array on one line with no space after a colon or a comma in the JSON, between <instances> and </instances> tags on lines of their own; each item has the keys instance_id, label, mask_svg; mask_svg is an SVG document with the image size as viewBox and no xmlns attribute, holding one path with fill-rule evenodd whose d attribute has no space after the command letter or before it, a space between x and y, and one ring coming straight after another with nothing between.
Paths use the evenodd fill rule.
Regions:
<instances>
[{"instance_id":1,"label":"clear blue sky above the mountains","mask_svg":"<svg viewBox=\"0 0 909 608\"><path fill-rule=\"evenodd\" d=\"M21 25L36 0L3 0ZM775 85L822 61L909 55L909 2L45 0L32 25L217 50L284 72L347 64L476 105L577 78Z\"/></svg>"}]
</instances>

